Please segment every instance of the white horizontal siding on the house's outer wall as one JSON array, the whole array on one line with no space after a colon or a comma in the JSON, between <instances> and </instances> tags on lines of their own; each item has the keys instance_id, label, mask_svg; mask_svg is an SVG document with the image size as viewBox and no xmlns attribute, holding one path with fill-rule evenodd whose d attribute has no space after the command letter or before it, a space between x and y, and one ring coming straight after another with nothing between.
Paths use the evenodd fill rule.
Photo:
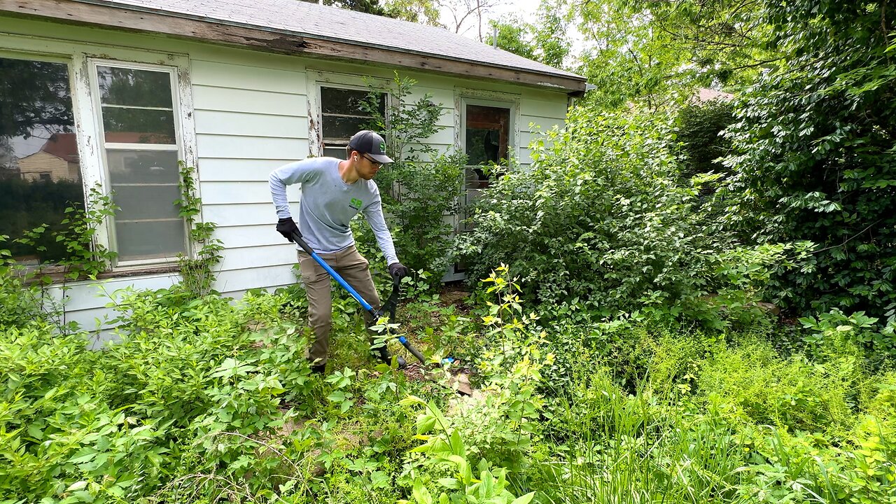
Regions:
<instances>
[{"instance_id":1,"label":"white horizontal siding on the house's outer wall","mask_svg":"<svg viewBox=\"0 0 896 504\"><path fill-rule=\"evenodd\" d=\"M53 39L44 38L53 33ZM15 35L13 35L15 34ZM309 121L317 121L316 85L359 85L359 75L391 83L391 69L368 65L321 62L296 56L265 54L240 48L213 46L177 39L0 17L0 51L4 48L65 56L73 51L102 55L118 53L166 54L189 61L195 126L196 169L202 196L202 219L218 225L216 236L224 244L215 287L236 298L254 288L277 288L296 282L292 266L295 246L274 230L276 214L267 178L282 164L307 157ZM111 50L111 49L109 49ZM128 53L130 54L130 53ZM155 57L155 56L153 56ZM526 148L530 123L543 130L563 125L566 96L512 84L492 83L435 74L401 72L418 81L411 100L429 94L441 104L444 130L428 139L439 152L457 145L455 99L470 90L504 93L519 105L517 129L520 161L530 162ZM349 82L351 81L351 82ZM298 187L289 187L289 202L297 211ZM176 274L127 276L67 286L66 317L94 328L111 311L104 294L125 286L159 289L177 282ZM62 290L54 290L56 298ZM102 326L102 324L100 324Z\"/></svg>"}]
</instances>

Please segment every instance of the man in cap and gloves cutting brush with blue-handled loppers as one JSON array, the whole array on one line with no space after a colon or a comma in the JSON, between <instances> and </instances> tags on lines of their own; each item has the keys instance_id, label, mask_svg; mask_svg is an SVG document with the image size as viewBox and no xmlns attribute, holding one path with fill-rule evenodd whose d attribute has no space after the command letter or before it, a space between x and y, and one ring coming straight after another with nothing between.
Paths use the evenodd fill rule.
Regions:
<instances>
[{"instance_id":1,"label":"man in cap and gloves cutting brush with blue-handled loppers","mask_svg":"<svg viewBox=\"0 0 896 504\"><path fill-rule=\"evenodd\" d=\"M399 278L408 274L408 268L401 265L395 255L392 235L383 219L380 192L372 180L383 163L392 162L385 154L385 148L382 136L373 131L359 131L349 140L345 160L324 157L296 161L275 169L269 178L271 197L280 219L277 222L280 234L293 241L293 233L298 233L315 254L374 308L380 308L380 298L370 276L369 263L355 248L349 228L355 214L364 213L374 230L389 265L389 274ZM289 213L286 197L286 187L297 183L302 184L298 225ZM308 297L308 321L314 331L314 343L306 352L306 359L315 373L323 373L330 346L330 274L301 249L298 250L298 264ZM367 326L375 322L366 311L364 316ZM385 345L377 353L384 362L392 361Z\"/></svg>"}]
</instances>

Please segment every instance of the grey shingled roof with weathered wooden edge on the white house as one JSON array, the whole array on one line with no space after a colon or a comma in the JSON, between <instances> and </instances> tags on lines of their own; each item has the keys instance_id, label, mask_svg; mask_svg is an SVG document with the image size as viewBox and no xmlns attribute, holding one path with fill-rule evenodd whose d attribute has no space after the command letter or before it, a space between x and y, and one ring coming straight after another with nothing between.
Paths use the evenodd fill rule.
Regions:
<instances>
[{"instance_id":1,"label":"grey shingled roof with weathered wooden edge on the white house","mask_svg":"<svg viewBox=\"0 0 896 504\"><path fill-rule=\"evenodd\" d=\"M585 78L451 31L298 0L29 0L0 11L581 92ZM178 20L175 22L174 20ZM257 33L263 32L263 35Z\"/></svg>"}]
</instances>

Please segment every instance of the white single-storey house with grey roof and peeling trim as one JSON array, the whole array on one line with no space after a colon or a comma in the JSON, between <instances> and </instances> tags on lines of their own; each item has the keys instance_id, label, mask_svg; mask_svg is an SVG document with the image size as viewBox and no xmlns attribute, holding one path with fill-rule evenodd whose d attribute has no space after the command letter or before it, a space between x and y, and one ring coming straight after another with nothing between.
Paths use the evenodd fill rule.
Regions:
<instances>
[{"instance_id":1,"label":"white single-storey house with grey roof and peeling trim","mask_svg":"<svg viewBox=\"0 0 896 504\"><path fill-rule=\"evenodd\" d=\"M56 135L76 146L56 158L77 162L85 190L115 191L121 210L99 232L118 254L105 291L177 281L174 257L191 252L171 204L177 164L196 167L202 220L224 244L215 287L238 298L295 282L295 248L273 229L271 170L344 155L366 120L354 100L396 70L443 104L428 143L522 165L533 129L563 125L585 89L581 76L446 30L297 0L4 0L0 79L41 113L0 129L0 148L36 152ZM296 204L300 188L289 191ZM95 285L68 287L68 319L90 326L105 313Z\"/></svg>"}]
</instances>

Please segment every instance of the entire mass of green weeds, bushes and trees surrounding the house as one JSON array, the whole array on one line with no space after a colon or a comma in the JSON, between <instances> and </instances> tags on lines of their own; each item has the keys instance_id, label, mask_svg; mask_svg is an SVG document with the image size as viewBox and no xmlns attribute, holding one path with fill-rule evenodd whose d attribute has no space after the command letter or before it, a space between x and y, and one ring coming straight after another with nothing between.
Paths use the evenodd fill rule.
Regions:
<instances>
[{"instance_id":1,"label":"entire mass of green weeds, bushes and trees surrounding the house","mask_svg":"<svg viewBox=\"0 0 896 504\"><path fill-rule=\"evenodd\" d=\"M464 164L426 147L441 106L396 78L377 127L396 245L424 278L376 329L434 381L368 361L342 292L314 376L299 289L211 291L220 245L182 167L207 248L170 289L108 292L99 334L0 236L0 504L896 502L886 2L545 5L545 26L499 39L570 6L602 44L582 60L599 89L482 191L457 243L472 292L426 285ZM536 40L516 48L564 48ZM694 103L719 83L754 86ZM90 242L110 210L88 206L53 235L73 278L109 258Z\"/></svg>"}]
</instances>

